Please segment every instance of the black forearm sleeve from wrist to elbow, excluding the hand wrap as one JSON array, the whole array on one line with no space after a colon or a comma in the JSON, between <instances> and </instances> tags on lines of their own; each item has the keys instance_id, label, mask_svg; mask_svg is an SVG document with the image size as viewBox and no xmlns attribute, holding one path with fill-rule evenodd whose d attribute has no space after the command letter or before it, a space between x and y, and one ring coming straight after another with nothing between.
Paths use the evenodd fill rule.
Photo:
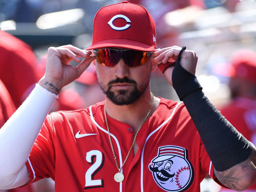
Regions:
<instances>
[{"instance_id":1,"label":"black forearm sleeve from wrist to elbow, excluding the hand wrap","mask_svg":"<svg viewBox=\"0 0 256 192\"><path fill-rule=\"evenodd\" d=\"M190 92L183 102L217 171L227 170L250 156L252 144L222 116L202 90Z\"/></svg>"}]
</instances>

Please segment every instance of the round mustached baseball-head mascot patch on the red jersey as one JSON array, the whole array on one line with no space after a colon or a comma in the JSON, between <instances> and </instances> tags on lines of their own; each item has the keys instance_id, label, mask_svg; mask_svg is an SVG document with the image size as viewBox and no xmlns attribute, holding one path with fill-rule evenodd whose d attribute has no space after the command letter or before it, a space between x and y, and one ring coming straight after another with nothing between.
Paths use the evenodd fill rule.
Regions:
<instances>
[{"instance_id":1,"label":"round mustached baseball-head mascot patch on the red jersey","mask_svg":"<svg viewBox=\"0 0 256 192\"><path fill-rule=\"evenodd\" d=\"M190 187L194 169L185 148L174 145L161 146L158 155L148 165L152 176L162 189L182 192Z\"/></svg>"}]
</instances>

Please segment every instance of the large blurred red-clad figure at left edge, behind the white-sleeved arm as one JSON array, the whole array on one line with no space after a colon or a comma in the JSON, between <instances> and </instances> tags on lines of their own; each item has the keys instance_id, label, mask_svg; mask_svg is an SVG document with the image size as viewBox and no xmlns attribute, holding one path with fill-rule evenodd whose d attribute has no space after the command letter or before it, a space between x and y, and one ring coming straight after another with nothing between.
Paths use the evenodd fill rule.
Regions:
<instances>
[{"instance_id":1,"label":"large blurred red-clad figure at left edge, behind the white-sleeved arm","mask_svg":"<svg viewBox=\"0 0 256 192\"><path fill-rule=\"evenodd\" d=\"M35 68L38 60L28 44L2 30L0 60L0 79L18 108L39 80Z\"/></svg>"}]
</instances>

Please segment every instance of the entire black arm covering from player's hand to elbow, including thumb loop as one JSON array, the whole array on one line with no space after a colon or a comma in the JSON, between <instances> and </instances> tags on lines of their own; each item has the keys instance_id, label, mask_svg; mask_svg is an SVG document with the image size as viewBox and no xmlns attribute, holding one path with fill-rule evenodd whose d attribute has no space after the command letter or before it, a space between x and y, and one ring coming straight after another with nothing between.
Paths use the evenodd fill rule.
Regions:
<instances>
[{"instance_id":1,"label":"entire black arm covering from player's hand to elbow, including thumb loop","mask_svg":"<svg viewBox=\"0 0 256 192\"><path fill-rule=\"evenodd\" d=\"M206 151L217 171L225 171L246 160L253 145L228 122L202 92L196 76L180 65L180 51L172 84L196 125Z\"/></svg>"}]
</instances>

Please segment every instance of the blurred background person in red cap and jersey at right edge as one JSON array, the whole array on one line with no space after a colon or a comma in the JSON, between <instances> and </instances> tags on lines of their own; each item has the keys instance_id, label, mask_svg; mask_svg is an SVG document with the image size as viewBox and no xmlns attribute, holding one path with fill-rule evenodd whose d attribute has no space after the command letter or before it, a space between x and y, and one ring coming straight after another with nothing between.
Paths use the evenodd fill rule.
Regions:
<instances>
[{"instance_id":1,"label":"blurred background person in red cap and jersey at right edge","mask_svg":"<svg viewBox=\"0 0 256 192\"><path fill-rule=\"evenodd\" d=\"M219 109L225 118L231 122L250 142L256 144L256 52L238 50L222 69L225 76L230 76L229 87L231 100ZM230 192L224 189L220 192ZM246 192L255 192L256 184Z\"/></svg>"}]
</instances>

